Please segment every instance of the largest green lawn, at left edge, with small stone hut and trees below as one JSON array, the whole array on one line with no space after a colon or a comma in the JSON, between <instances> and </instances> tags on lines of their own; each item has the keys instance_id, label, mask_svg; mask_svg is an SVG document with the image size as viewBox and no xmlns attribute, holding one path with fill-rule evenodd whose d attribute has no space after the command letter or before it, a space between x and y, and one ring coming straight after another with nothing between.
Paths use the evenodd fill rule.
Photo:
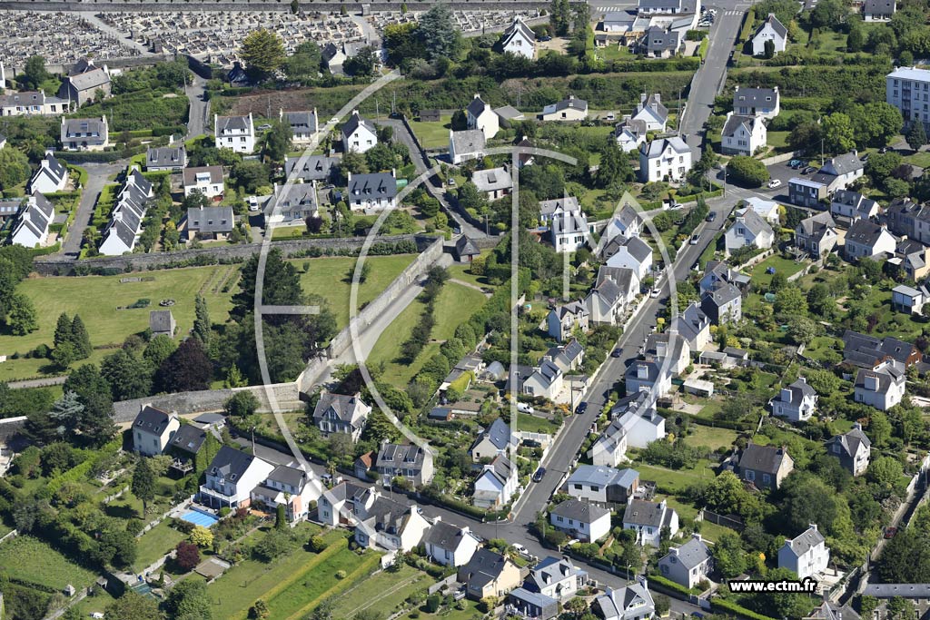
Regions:
<instances>
[{"instance_id":1,"label":"largest green lawn, at left edge, with small stone hut and trees below","mask_svg":"<svg viewBox=\"0 0 930 620\"><path fill-rule=\"evenodd\" d=\"M46 277L23 281L18 291L32 299L38 313L39 329L27 336L0 333L0 350L7 354L25 353L40 344L52 345L55 324L61 312L81 315L90 342L95 347L119 345L126 336L145 331L149 326L149 311L159 310L162 299L174 299L171 307L178 322L178 336L186 336L193 326L193 300L200 293L206 297L210 318L215 323L226 321L231 308L232 292L221 288L227 277L234 276L237 267L219 265L179 270L148 271L122 276ZM120 283L120 278L152 278L147 282ZM130 306L141 298L150 300L147 308L116 310ZM109 350L95 350L91 362L99 361ZM86 363L77 362L75 365ZM20 358L0 363L0 381L39 375L47 370L60 371L47 360Z\"/></svg>"}]
</instances>

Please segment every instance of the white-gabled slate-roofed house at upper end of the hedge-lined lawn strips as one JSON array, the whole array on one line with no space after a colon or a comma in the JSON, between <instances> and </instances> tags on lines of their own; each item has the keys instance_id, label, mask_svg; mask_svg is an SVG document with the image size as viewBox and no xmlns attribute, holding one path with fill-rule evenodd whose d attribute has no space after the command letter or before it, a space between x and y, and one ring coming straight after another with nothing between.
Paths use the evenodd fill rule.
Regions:
<instances>
[{"instance_id":1,"label":"white-gabled slate-roofed house at upper end of the hedge-lined lawn strips","mask_svg":"<svg viewBox=\"0 0 930 620\"><path fill-rule=\"evenodd\" d=\"M359 547L407 553L420 544L429 529L430 521L419 506L377 495L355 521L354 539Z\"/></svg>"}]
</instances>

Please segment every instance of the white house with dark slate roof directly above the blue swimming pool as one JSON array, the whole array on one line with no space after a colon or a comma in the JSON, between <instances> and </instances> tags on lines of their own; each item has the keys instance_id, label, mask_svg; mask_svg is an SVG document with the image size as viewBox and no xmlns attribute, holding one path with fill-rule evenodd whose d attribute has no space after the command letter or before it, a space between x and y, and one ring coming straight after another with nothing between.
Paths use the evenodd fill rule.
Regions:
<instances>
[{"instance_id":1,"label":"white house with dark slate roof directly above the blue swimming pool","mask_svg":"<svg viewBox=\"0 0 930 620\"><path fill-rule=\"evenodd\" d=\"M252 490L268 480L274 468L256 455L224 445L206 468L199 500L211 508L248 508Z\"/></svg>"}]
</instances>

